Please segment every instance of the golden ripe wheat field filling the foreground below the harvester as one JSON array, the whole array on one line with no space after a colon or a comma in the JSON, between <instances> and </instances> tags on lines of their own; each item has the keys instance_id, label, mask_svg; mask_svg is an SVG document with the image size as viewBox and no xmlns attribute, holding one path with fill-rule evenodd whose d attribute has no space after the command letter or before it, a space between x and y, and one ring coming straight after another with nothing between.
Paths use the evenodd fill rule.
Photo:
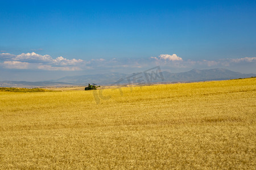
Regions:
<instances>
[{"instance_id":1,"label":"golden ripe wheat field filling the foreground below the harvester","mask_svg":"<svg viewBox=\"0 0 256 170\"><path fill-rule=\"evenodd\" d=\"M0 97L0 169L256 168L256 78Z\"/></svg>"}]
</instances>

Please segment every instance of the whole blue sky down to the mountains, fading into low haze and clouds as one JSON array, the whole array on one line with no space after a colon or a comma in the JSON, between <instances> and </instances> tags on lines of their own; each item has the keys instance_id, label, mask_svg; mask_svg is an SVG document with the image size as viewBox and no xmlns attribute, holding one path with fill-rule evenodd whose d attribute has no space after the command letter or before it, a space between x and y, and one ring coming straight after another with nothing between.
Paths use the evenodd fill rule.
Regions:
<instances>
[{"instance_id":1,"label":"whole blue sky down to the mountains, fading into low haze and clouds","mask_svg":"<svg viewBox=\"0 0 256 170\"><path fill-rule=\"evenodd\" d=\"M172 72L225 67L256 73L255 1L0 1L0 6L0 69L13 79L20 73L28 80L30 71L47 78L49 71L56 77L61 71L131 73L154 65Z\"/></svg>"}]
</instances>

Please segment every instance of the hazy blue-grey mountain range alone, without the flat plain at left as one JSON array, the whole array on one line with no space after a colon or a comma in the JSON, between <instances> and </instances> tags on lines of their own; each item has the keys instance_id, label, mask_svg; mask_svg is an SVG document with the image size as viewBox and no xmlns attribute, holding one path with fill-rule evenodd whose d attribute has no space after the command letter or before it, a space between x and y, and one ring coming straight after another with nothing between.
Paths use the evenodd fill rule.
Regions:
<instances>
[{"instance_id":1,"label":"hazy blue-grey mountain range alone, without the flat plain at left","mask_svg":"<svg viewBox=\"0 0 256 170\"><path fill-rule=\"evenodd\" d=\"M242 74L239 72L234 72L226 69L210 69L210 70L197 70L193 69L184 73L170 73L168 71L163 71L163 79L160 73L157 73L158 77L147 81L144 73L134 73L134 74L122 74L122 73L106 73L106 74L95 74L95 75L81 75L81 76L65 76L64 78L57 79L56 82L68 82L74 84L87 84L87 83L97 83L97 84L117 84L119 79L123 79L120 84L138 83L139 77L141 77L141 83L156 83L156 82L193 82L193 81L205 81L205 80L227 80L227 79L237 79L237 78L248 78L251 76L256 76L256 74ZM133 76L134 75L134 76ZM138 81L134 81L134 78Z\"/></svg>"}]
</instances>

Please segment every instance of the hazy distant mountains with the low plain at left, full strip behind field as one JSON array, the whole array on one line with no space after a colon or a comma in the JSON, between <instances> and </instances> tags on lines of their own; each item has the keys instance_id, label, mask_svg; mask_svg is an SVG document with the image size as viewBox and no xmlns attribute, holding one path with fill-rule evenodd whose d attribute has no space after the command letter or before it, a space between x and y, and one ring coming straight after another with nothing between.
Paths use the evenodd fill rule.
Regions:
<instances>
[{"instance_id":1,"label":"hazy distant mountains with the low plain at left, full strip behind field","mask_svg":"<svg viewBox=\"0 0 256 170\"><path fill-rule=\"evenodd\" d=\"M210 69L210 70L197 70L193 69L184 73L170 73L163 71L158 73L106 73L106 74L94 74L94 75L81 75L81 76L65 76L57 80L48 82L15 82L4 81L0 82L0 87L63 87L63 86L86 86L88 83L96 83L100 85L109 84L145 84L156 82L196 82L206 80L227 80L237 78L249 78L256 76L256 74L242 74L226 69Z\"/></svg>"}]
</instances>

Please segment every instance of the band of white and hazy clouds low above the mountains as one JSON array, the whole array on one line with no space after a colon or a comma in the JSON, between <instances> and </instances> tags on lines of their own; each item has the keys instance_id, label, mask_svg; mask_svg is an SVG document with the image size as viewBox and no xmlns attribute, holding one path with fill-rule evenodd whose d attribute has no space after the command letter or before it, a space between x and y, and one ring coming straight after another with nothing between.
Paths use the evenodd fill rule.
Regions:
<instances>
[{"instance_id":1,"label":"band of white and hazy clouds low above the mountains","mask_svg":"<svg viewBox=\"0 0 256 170\"><path fill-rule=\"evenodd\" d=\"M64 57L52 58L49 55L40 55L35 52L14 55L10 53L0 54L0 67L3 69L23 69L23 70L48 70L48 71L79 71L101 69L134 69L147 68L155 65L170 68L205 68L205 67L228 67L240 65L241 63L256 63L256 57L224 58L216 60L192 61L184 60L176 54L160 54L158 57L140 59L67 59Z\"/></svg>"}]
</instances>

